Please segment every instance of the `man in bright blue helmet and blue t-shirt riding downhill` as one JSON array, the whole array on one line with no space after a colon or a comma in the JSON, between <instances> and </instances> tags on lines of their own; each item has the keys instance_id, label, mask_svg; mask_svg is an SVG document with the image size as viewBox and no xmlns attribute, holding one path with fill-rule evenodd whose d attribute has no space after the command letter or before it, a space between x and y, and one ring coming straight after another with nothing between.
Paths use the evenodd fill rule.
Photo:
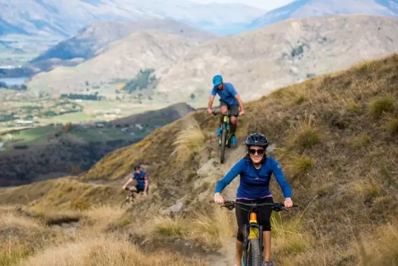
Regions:
<instances>
[{"instance_id":1,"label":"man in bright blue helmet and blue t-shirt riding downhill","mask_svg":"<svg viewBox=\"0 0 398 266\"><path fill-rule=\"evenodd\" d=\"M228 109L230 110L231 115L231 142L232 145L236 145L236 123L238 121L237 116L242 116L245 114L245 110L243 109L243 103L242 100L240 99L239 94L236 92L235 88L231 83L228 82L223 82L222 81L222 76L221 75L215 75L213 77L213 89L211 90L211 96L210 99L208 100L208 105L207 105L207 113L209 115L212 114L212 106L213 106L213 101L214 97L216 94L220 97L220 111L221 114L225 115L227 114ZM240 108L240 112L239 112ZM217 129L217 135L221 134L221 124L222 124L223 118L220 117L220 125Z\"/></svg>"}]
</instances>

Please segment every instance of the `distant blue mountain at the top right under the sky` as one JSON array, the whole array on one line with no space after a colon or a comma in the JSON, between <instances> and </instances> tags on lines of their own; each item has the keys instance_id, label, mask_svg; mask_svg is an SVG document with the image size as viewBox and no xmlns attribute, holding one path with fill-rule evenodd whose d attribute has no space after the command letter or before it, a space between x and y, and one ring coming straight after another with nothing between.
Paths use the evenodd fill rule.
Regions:
<instances>
[{"instance_id":1,"label":"distant blue mountain at the top right under the sky","mask_svg":"<svg viewBox=\"0 0 398 266\"><path fill-rule=\"evenodd\" d=\"M398 16L398 0L296 0L254 19L248 28L260 28L288 18L333 14Z\"/></svg>"}]
</instances>

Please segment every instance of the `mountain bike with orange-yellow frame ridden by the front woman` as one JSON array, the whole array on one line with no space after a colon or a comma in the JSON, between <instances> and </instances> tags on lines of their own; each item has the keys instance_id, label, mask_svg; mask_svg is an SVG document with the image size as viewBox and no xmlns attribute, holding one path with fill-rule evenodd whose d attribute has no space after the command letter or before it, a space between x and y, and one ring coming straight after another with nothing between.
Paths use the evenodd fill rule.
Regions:
<instances>
[{"instance_id":1,"label":"mountain bike with orange-yellow frame ridden by the front woman","mask_svg":"<svg viewBox=\"0 0 398 266\"><path fill-rule=\"evenodd\" d=\"M214 200L210 200L210 203L214 203ZM245 206L247 208L244 208ZM245 224L243 226L244 243L242 261L244 266L263 265L263 226L257 223L257 207L260 206L270 206L275 212L287 211L283 202L257 204L225 200L224 204L221 205L221 207L225 207L228 210L233 210L236 207L249 211L249 225ZM298 205L294 204L293 207L298 207Z\"/></svg>"}]
</instances>

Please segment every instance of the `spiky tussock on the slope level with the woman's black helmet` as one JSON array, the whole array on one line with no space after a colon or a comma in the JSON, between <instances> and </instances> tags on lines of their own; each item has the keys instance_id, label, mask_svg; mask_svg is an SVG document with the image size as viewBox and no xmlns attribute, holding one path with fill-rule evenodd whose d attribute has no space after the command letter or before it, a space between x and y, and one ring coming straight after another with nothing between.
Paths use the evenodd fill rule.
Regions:
<instances>
[{"instance_id":1,"label":"spiky tussock on the slope level with the woman's black helmet","mask_svg":"<svg viewBox=\"0 0 398 266\"><path fill-rule=\"evenodd\" d=\"M299 119L298 124L292 126L293 132L290 135L290 142L301 146L302 148L310 148L321 142L320 130L313 122L312 114L304 120Z\"/></svg>"}]
</instances>

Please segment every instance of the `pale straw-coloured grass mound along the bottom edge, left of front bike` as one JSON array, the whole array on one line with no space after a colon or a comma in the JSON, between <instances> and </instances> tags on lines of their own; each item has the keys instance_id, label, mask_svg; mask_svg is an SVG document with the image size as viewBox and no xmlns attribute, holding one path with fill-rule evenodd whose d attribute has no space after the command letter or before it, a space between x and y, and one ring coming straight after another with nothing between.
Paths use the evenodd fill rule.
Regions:
<instances>
[{"instance_id":1,"label":"pale straw-coloured grass mound along the bottom edge, left of front bike","mask_svg":"<svg viewBox=\"0 0 398 266\"><path fill-rule=\"evenodd\" d=\"M83 239L43 250L18 266L206 266L203 261L178 254L144 254L137 247L113 238Z\"/></svg>"}]
</instances>

